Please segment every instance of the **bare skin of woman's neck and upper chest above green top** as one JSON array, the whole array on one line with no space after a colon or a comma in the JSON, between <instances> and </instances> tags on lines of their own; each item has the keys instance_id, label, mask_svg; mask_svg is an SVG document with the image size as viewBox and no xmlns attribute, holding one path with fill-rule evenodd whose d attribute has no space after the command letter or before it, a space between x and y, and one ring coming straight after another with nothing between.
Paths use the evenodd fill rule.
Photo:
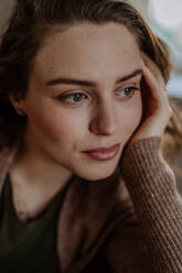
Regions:
<instances>
[{"instance_id":1,"label":"bare skin of woman's neck and upper chest above green top","mask_svg":"<svg viewBox=\"0 0 182 273\"><path fill-rule=\"evenodd\" d=\"M40 157L34 151L18 152L10 168L12 196L19 219L35 218L62 190L72 173Z\"/></svg>"}]
</instances>

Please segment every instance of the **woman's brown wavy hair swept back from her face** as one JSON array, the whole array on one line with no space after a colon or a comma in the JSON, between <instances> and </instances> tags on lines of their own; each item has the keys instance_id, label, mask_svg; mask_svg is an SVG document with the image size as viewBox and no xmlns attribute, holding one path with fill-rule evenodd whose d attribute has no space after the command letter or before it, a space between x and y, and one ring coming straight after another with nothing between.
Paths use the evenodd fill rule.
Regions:
<instances>
[{"instance_id":1,"label":"woman's brown wavy hair swept back from her face","mask_svg":"<svg viewBox=\"0 0 182 273\"><path fill-rule=\"evenodd\" d=\"M0 148L12 145L23 134L26 118L15 113L9 96L20 99L26 95L34 58L46 37L82 22L126 25L140 50L154 61L168 81L171 72L168 46L127 1L17 0L0 44ZM169 157L182 144L182 119L176 107L172 108L174 114L165 130L168 138L164 136L168 146L164 144L163 149Z\"/></svg>"}]
</instances>

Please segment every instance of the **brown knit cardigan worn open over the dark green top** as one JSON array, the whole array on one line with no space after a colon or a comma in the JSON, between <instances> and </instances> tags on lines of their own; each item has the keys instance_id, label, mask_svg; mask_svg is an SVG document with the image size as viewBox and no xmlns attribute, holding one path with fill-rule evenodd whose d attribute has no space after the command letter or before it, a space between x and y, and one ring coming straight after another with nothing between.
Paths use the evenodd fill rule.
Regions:
<instances>
[{"instance_id":1,"label":"brown knit cardigan worn open over the dark green top","mask_svg":"<svg viewBox=\"0 0 182 273\"><path fill-rule=\"evenodd\" d=\"M61 272L182 273L182 198L160 148L160 138L140 140L111 177L73 177L57 226ZM14 153L1 151L0 189Z\"/></svg>"}]
</instances>

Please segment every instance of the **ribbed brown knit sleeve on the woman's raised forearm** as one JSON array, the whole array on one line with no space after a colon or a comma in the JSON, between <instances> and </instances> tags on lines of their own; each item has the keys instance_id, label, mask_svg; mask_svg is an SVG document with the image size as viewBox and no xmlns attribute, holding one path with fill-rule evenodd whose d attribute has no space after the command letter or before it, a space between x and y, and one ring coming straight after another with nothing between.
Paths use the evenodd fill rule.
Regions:
<instances>
[{"instance_id":1,"label":"ribbed brown knit sleeve on the woman's raised forearm","mask_svg":"<svg viewBox=\"0 0 182 273\"><path fill-rule=\"evenodd\" d=\"M182 272L182 198L175 177L152 136L129 146L121 173L149 250L153 272Z\"/></svg>"}]
</instances>

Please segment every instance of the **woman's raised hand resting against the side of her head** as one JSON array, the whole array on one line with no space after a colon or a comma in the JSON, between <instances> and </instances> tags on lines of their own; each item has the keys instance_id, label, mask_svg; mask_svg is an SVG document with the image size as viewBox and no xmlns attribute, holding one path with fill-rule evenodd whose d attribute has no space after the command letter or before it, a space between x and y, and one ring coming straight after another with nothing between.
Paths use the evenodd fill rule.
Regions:
<instances>
[{"instance_id":1,"label":"woman's raised hand resting against the side of her head","mask_svg":"<svg viewBox=\"0 0 182 273\"><path fill-rule=\"evenodd\" d=\"M144 85L142 88L143 118L128 145L150 136L162 136L171 118L165 84L152 59L141 54Z\"/></svg>"}]
</instances>

